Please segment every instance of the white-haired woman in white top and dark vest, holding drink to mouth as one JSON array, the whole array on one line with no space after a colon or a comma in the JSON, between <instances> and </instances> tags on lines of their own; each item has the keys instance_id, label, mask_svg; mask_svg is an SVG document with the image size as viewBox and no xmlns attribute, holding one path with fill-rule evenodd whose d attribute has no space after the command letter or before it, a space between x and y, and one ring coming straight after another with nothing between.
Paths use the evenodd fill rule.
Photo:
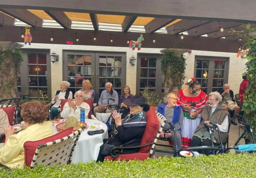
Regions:
<instances>
[{"instance_id":1,"label":"white-haired woman in white top and dark vest, holding drink to mouth","mask_svg":"<svg viewBox=\"0 0 256 178\"><path fill-rule=\"evenodd\" d=\"M60 86L61 90L58 90L58 91L55 92L55 96L52 99L52 108L51 108L52 119L54 119L58 115L58 112L59 112L58 108L61 105L61 100L62 99L68 99L68 98L72 99L73 98L72 92L68 90L69 86L70 86L69 82L62 81L61 86Z\"/></svg>"}]
</instances>

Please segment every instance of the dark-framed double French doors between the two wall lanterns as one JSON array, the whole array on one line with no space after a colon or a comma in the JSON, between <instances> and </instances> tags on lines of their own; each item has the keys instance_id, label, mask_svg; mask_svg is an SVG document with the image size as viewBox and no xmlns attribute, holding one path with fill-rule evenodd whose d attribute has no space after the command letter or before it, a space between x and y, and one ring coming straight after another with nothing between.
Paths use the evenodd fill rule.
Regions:
<instances>
[{"instance_id":1,"label":"dark-framed double French doors between the two wall lanterns","mask_svg":"<svg viewBox=\"0 0 256 178\"><path fill-rule=\"evenodd\" d=\"M82 81L90 80L95 93L105 90L111 82L121 95L125 85L125 53L64 51L64 80L68 81L73 94L82 88Z\"/></svg>"}]
</instances>

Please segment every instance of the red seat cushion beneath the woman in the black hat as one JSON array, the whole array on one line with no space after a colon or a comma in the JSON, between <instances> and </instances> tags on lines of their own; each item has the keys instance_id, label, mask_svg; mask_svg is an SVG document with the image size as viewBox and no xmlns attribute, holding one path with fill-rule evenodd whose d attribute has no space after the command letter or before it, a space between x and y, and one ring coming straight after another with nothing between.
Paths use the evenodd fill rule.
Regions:
<instances>
[{"instance_id":1,"label":"red seat cushion beneath the woman in the black hat","mask_svg":"<svg viewBox=\"0 0 256 178\"><path fill-rule=\"evenodd\" d=\"M149 157L149 153L131 153L131 154L120 154L118 157L115 158L114 161L118 161L119 159L122 160L126 160L126 161L130 161L130 160L141 160L144 161ZM106 160L113 160L112 156L106 156L105 157Z\"/></svg>"}]
</instances>

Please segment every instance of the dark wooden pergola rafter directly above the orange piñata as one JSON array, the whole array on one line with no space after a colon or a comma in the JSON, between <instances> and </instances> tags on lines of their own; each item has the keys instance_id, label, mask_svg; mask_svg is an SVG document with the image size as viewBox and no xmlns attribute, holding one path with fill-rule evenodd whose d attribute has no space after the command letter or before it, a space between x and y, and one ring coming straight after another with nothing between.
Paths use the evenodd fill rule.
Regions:
<instances>
[{"instance_id":1,"label":"dark wooden pergola rafter directly above the orange pi\u00f1ata","mask_svg":"<svg viewBox=\"0 0 256 178\"><path fill-rule=\"evenodd\" d=\"M33 13L29 12L27 9L0 8L0 10L12 17L19 19L20 21L32 27L42 27L42 24L43 24L42 19L37 17Z\"/></svg>"}]
</instances>

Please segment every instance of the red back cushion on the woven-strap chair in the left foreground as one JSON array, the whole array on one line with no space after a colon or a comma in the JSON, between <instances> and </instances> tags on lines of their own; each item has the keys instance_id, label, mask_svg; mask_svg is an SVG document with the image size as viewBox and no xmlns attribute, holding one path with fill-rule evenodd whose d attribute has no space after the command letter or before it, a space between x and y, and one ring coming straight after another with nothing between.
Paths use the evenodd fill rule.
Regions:
<instances>
[{"instance_id":1,"label":"red back cushion on the woven-strap chair in the left foreground","mask_svg":"<svg viewBox=\"0 0 256 178\"><path fill-rule=\"evenodd\" d=\"M66 128L65 130L62 130L59 133L56 133L55 135L52 135L50 137L47 137L45 139L37 140L37 141L26 141L23 145L24 151L25 151L25 164L29 167L33 156L35 154L36 148L38 145L54 141L57 139L62 139L63 137L66 137L70 134L72 134L73 127Z\"/></svg>"}]
</instances>

